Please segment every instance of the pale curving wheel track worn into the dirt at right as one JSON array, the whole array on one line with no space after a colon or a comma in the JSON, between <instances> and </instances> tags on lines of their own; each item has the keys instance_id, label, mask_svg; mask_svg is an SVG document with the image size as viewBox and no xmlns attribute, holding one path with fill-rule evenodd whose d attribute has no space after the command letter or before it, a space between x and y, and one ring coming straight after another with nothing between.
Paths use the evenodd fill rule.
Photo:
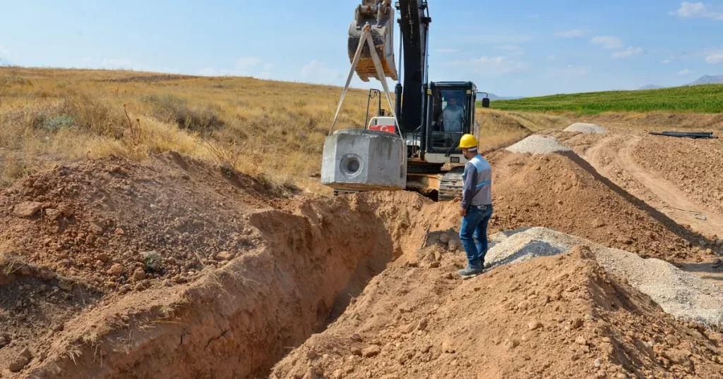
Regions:
<instances>
[{"instance_id":1,"label":"pale curving wheel track worn into the dirt at right","mask_svg":"<svg viewBox=\"0 0 723 379\"><path fill-rule=\"evenodd\" d=\"M624 170L635 180L644 186L652 195L655 196L654 204L661 212L679 224L690 225L690 228L703 235L719 235L723 231L723 218L710 209L694 203L688 199L684 193L675 188L672 184L654 175L646 172L637 164L632 157L632 151L640 142L640 136L632 136L632 138L624 141L620 149L615 151L609 147L612 141L620 139L622 136L608 136L594 144L586 152L586 159L591 165L596 167L605 176L610 177L607 165L604 165L601 159L601 153L606 151L620 169ZM700 213L698 213L700 212ZM698 219L696 217L705 216L706 219Z\"/></svg>"}]
</instances>

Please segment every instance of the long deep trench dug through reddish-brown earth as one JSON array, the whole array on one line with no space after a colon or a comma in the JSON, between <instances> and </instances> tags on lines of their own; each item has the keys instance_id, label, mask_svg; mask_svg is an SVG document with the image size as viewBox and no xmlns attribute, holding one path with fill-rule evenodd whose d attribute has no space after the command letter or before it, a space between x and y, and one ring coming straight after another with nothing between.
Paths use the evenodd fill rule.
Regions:
<instances>
[{"instance_id":1,"label":"long deep trench dug through reddish-brown earth","mask_svg":"<svg viewBox=\"0 0 723 379\"><path fill-rule=\"evenodd\" d=\"M427 219L417 216L429 205L436 206L400 191L253 212L245 228L258 242L249 251L187 286L148 289L87 310L65 329L82 338L95 331L93 346L80 345L77 356L61 354L31 373L268 378L276 362L324 331L388 263L418 247ZM124 326L106 325L113 314L127 315Z\"/></svg>"}]
</instances>

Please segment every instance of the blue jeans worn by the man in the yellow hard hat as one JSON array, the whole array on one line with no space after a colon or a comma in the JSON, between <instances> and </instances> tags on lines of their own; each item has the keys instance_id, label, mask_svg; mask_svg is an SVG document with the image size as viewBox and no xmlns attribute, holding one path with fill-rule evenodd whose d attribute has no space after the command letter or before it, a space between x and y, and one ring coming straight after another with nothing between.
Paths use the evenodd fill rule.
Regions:
<instances>
[{"instance_id":1,"label":"blue jeans worn by the man in the yellow hard hat","mask_svg":"<svg viewBox=\"0 0 723 379\"><path fill-rule=\"evenodd\" d=\"M466 216L462 218L459 239L462 240L464 251L467 253L469 266L475 269L484 267L484 256L487 255L489 217L492 217L492 205L484 206L483 209L470 206Z\"/></svg>"}]
</instances>

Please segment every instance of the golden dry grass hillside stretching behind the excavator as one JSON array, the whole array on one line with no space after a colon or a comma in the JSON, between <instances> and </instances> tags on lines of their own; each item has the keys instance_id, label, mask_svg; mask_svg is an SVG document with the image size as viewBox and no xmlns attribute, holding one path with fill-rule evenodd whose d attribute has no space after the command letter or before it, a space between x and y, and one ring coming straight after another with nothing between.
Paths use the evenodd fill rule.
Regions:
<instances>
[{"instance_id":1,"label":"golden dry grass hillside stretching behind the excavator","mask_svg":"<svg viewBox=\"0 0 723 379\"><path fill-rule=\"evenodd\" d=\"M340 94L240 77L0 68L0 186L74 160L174 150L281 189L325 191L320 157ZM366 105L366 91L351 91L337 128L361 127ZM478 119L487 149L568 122L498 110L479 110Z\"/></svg>"}]
</instances>

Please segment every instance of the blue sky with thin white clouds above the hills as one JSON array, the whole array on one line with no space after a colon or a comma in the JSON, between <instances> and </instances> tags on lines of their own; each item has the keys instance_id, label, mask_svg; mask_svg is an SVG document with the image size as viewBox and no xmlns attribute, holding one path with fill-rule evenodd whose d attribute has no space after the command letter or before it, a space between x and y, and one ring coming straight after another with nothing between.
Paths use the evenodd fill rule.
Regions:
<instances>
[{"instance_id":1,"label":"blue sky with thin white clouds above the hills","mask_svg":"<svg viewBox=\"0 0 723 379\"><path fill-rule=\"evenodd\" d=\"M711 1L429 0L430 79L531 96L723 74ZM0 0L0 59L343 84L359 2Z\"/></svg>"}]
</instances>

